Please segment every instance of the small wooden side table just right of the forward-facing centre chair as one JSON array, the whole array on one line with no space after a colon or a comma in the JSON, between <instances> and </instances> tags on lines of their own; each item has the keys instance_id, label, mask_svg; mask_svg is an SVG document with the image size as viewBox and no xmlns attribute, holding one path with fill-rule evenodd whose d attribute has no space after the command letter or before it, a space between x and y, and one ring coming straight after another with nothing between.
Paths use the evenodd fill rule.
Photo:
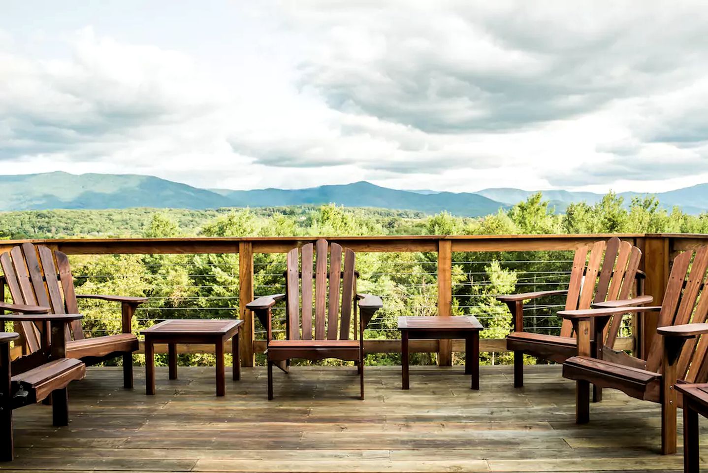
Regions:
<instances>
[{"instance_id":1,"label":"small wooden side table just right of the forward-facing centre chair","mask_svg":"<svg viewBox=\"0 0 708 473\"><path fill-rule=\"evenodd\" d=\"M471 389L479 389L479 331L483 330L476 317L399 317L401 331L401 352L403 389L409 389L409 346L413 339L464 338L464 374L472 375Z\"/></svg>"}]
</instances>

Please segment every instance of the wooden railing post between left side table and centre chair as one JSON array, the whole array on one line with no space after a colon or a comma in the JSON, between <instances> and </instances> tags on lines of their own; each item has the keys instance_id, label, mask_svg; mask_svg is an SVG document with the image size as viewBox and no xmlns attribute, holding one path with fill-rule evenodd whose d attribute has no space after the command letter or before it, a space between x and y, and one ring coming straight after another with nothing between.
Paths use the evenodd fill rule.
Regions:
<instances>
[{"instance_id":1,"label":"wooden railing post between left side table and centre chair","mask_svg":"<svg viewBox=\"0 0 708 473\"><path fill-rule=\"evenodd\" d=\"M239 318L244 321L241 326L239 351L241 366L251 367L256 364L253 353L253 314L246 309L246 304L253 300L253 244L250 241L239 241Z\"/></svg>"}]
</instances>

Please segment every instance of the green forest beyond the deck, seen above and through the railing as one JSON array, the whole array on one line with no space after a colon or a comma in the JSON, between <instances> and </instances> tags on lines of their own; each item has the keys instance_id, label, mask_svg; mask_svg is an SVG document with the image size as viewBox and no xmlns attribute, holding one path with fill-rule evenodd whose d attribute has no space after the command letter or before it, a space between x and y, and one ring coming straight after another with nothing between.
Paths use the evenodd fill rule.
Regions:
<instances>
[{"instance_id":1,"label":"green forest beyond the deck, seen above and through the railing","mask_svg":"<svg viewBox=\"0 0 708 473\"><path fill-rule=\"evenodd\" d=\"M422 234L584 234L707 233L708 215L687 215L678 207L663 208L653 197L624 203L608 193L595 205L575 203L556 213L541 193L481 218L447 212L421 212L320 207L177 210L46 210L0 213L1 239L167 237L167 236L346 236ZM237 254L72 256L74 283L81 293L149 297L137 312L133 329L173 317L236 317L239 266ZM474 314L486 327L486 338L503 338L510 330L506 306L498 294L562 288L567 284L572 253L536 251L453 254L453 313ZM396 317L435 314L436 253L360 253L358 288L382 296L384 309L365 338L398 338ZM256 295L282 292L285 258L255 255ZM543 302L528 314L529 325L554 334L560 320L553 315L562 300ZM91 334L116 333L120 314L115 305L84 303L84 326ZM284 336L284 309L274 316ZM627 329L625 329L627 330ZM626 333L625 333L626 334ZM256 338L263 328L256 322ZM183 363L210 364L211 355L181 355ZM461 363L464 354L455 353ZM400 355L370 354L367 363L399 363ZM503 353L485 353L483 363L507 363ZM435 363L435 353L421 353L412 363ZM529 359L527 363L535 363Z\"/></svg>"}]
</instances>

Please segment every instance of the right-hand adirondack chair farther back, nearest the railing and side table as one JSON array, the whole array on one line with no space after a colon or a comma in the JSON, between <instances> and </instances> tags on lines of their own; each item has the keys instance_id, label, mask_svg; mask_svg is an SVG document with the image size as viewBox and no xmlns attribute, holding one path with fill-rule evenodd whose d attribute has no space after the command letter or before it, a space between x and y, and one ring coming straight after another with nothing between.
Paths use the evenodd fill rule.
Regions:
<instances>
[{"instance_id":1,"label":"right-hand adirondack chair farther back, nearest the railing and side table","mask_svg":"<svg viewBox=\"0 0 708 473\"><path fill-rule=\"evenodd\" d=\"M589 254L588 250L590 250ZM567 358L578 354L573 325L570 321L563 321L560 336L524 331L524 301L549 295L567 294L566 310L589 309L590 304L597 304L600 307L647 304L652 299L651 296L643 295L644 273L638 270L640 260L639 248L613 236L606 242L597 241L590 247L583 246L576 251L568 290L527 292L497 297L501 302L506 302L513 315L514 331L506 338L506 348L514 352L515 387L522 387L524 384L524 353L556 363L563 363ZM633 288L636 297L630 299ZM612 357L621 360L629 356L623 351L615 351L612 348L621 324L622 317L615 317L602 334L605 341L603 350L608 359ZM601 398L602 391L593 387L593 399L599 401Z\"/></svg>"}]
</instances>

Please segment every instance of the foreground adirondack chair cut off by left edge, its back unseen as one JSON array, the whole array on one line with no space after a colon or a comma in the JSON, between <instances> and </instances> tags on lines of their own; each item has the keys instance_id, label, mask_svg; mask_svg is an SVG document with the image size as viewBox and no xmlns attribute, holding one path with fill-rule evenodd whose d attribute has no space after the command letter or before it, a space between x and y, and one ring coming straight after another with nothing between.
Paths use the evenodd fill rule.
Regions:
<instances>
[{"instance_id":1,"label":"foreground adirondack chair cut off by left edge, its back unseen","mask_svg":"<svg viewBox=\"0 0 708 473\"><path fill-rule=\"evenodd\" d=\"M22 308L25 314L5 314ZM29 314L31 312L32 314ZM20 334L0 333L0 461L13 460L12 411L44 399L52 401L52 423L69 423L67 385L81 380L86 365L81 360L65 358L67 323L81 319L80 314L46 314L47 307L21 307L0 303L0 327L5 321L40 324L42 345L37 351L11 361L10 342ZM49 326L48 330L47 324Z\"/></svg>"}]
</instances>

